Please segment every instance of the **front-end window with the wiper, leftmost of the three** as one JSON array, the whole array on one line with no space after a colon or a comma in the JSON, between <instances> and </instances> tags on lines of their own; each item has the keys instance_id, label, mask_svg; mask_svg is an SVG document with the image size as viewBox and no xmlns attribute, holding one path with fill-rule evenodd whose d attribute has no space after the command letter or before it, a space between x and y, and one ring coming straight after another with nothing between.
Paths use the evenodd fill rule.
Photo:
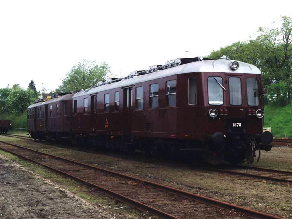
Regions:
<instances>
[{"instance_id":1,"label":"front-end window with the wiper, leftmost of the three","mask_svg":"<svg viewBox=\"0 0 292 219\"><path fill-rule=\"evenodd\" d=\"M223 80L221 77L208 77L208 99L210 105L223 104Z\"/></svg>"}]
</instances>

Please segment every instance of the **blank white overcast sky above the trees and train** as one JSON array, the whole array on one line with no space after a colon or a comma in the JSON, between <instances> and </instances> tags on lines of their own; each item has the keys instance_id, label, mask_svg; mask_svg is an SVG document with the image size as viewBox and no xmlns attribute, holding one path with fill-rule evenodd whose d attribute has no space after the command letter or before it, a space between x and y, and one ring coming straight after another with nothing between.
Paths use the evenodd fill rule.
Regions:
<instances>
[{"instance_id":1,"label":"blank white overcast sky above the trees and train","mask_svg":"<svg viewBox=\"0 0 292 219\"><path fill-rule=\"evenodd\" d=\"M0 1L0 88L55 90L81 59L117 76L255 38L292 1ZM189 52L185 52L189 51Z\"/></svg>"}]
</instances>

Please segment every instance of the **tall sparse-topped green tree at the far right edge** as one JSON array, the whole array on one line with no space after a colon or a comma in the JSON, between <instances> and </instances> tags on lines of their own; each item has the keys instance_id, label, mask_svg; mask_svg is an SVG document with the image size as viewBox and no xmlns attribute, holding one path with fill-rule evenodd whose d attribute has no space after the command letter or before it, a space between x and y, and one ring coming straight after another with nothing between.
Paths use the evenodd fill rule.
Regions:
<instances>
[{"instance_id":1,"label":"tall sparse-topped green tree at the far right edge","mask_svg":"<svg viewBox=\"0 0 292 219\"><path fill-rule=\"evenodd\" d=\"M259 58L267 94L270 100L276 100L274 103L286 105L291 102L292 91L292 18L282 16L278 25L274 28L260 27L256 41L263 47Z\"/></svg>"}]
</instances>

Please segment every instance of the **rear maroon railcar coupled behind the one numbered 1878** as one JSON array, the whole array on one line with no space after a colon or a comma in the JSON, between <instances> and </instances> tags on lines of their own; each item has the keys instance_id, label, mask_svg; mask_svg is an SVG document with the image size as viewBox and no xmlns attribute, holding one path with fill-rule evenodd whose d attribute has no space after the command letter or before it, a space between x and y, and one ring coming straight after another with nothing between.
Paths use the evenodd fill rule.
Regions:
<instances>
[{"instance_id":1,"label":"rear maroon railcar coupled behind the one numbered 1878","mask_svg":"<svg viewBox=\"0 0 292 219\"><path fill-rule=\"evenodd\" d=\"M27 130L32 138L49 140L69 137L73 95L55 95L36 101L27 108Z\"/></svg>"}]
</instances>

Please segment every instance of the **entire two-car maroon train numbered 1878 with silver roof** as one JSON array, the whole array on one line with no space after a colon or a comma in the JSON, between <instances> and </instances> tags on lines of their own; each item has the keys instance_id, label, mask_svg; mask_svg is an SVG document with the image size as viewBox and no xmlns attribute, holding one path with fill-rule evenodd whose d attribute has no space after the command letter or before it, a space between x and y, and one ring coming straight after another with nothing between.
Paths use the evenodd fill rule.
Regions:
<instances>
[{"instance_id":1,"label":"entire two-car maroon train numbered 1878 with silver roof","mask_svg":"<svg viewBox=\"0 0 292 219\"><path fill-rule=\"evenodd\" d=\"M177 58L37 100L27 108L28 132L35 140L252 164L273 140L262 131L261 80L256 66L226 56Z\"/></svg>"}]
</instances>

